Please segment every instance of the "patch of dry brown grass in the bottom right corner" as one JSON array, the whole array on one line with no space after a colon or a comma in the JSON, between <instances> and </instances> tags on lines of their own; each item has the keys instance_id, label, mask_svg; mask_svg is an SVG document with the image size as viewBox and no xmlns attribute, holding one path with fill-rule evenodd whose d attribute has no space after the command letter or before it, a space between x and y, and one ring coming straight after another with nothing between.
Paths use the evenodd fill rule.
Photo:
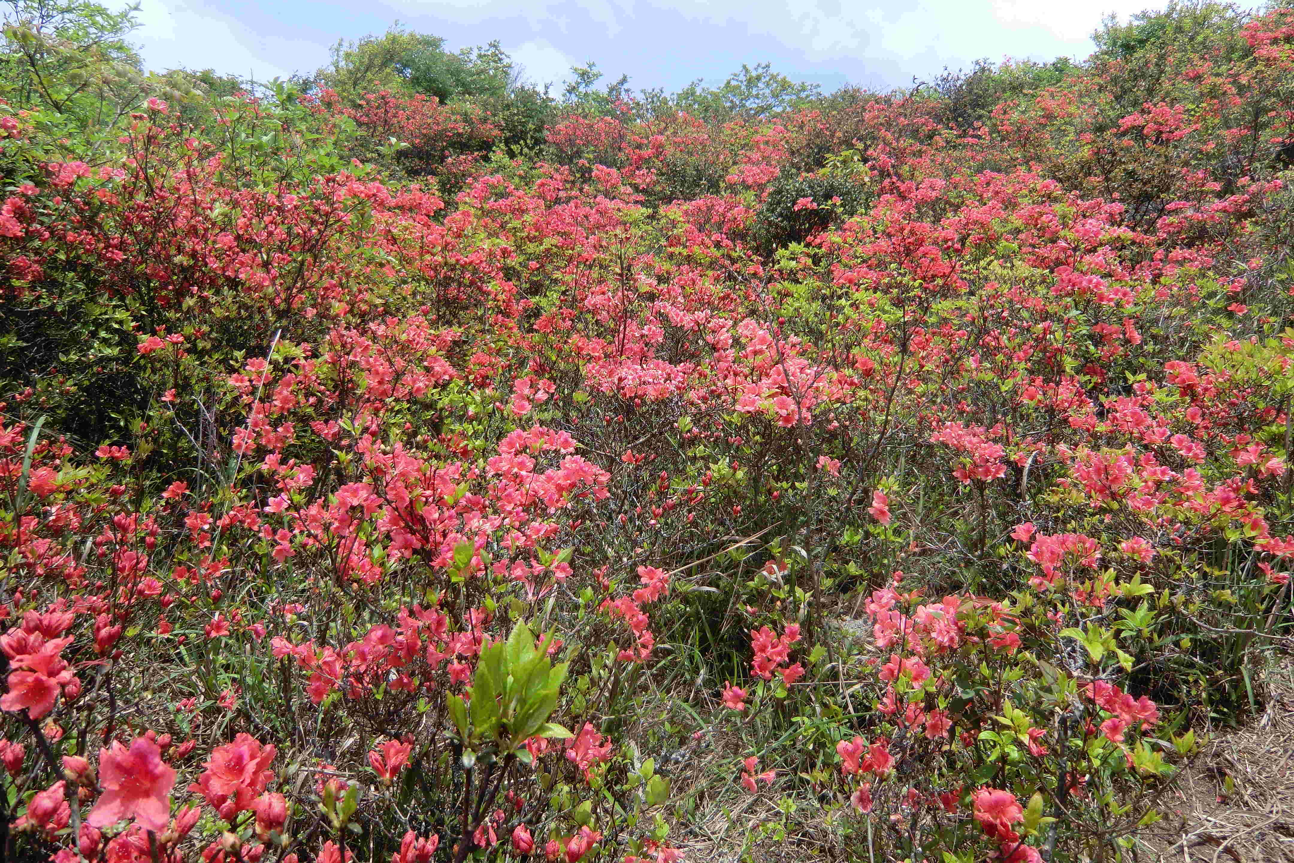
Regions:
<instances>
[{"instance_id":1,"label":"patch of dry brown grass in the bottom right corner","mask_svg":"<svg viewBox=\"0 0 1294 863\"><path fill-rule=\"evenodd\" d=\"M1268 670L1267 694L1259 717L1215 732L1179 774L1139 859L1294 863L1294 659Z\"/></svg>"}]
</instances>

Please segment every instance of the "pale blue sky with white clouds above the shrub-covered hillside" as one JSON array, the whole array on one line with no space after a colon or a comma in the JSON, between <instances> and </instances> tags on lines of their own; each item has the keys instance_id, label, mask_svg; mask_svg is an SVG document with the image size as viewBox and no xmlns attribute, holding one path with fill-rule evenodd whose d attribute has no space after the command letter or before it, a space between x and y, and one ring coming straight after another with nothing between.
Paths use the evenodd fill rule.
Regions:
<instances>
[{"instance_id":1,"label":"pale blue sky with white clouds above the shrub-covered hillside","mask_svg":"<svg viewBox=\"0 0 1294 863\"><path fill-rule=\"evenodd\" d=\"M498 39L536 83L594 61L630 87L722 82L769 61L823 89L902 85L978 57L1084 57L1106 13L1157 0L142 0L150 69L311 72L338 39L400 21L450 48Z\"/></svg>"}]
</instances>

